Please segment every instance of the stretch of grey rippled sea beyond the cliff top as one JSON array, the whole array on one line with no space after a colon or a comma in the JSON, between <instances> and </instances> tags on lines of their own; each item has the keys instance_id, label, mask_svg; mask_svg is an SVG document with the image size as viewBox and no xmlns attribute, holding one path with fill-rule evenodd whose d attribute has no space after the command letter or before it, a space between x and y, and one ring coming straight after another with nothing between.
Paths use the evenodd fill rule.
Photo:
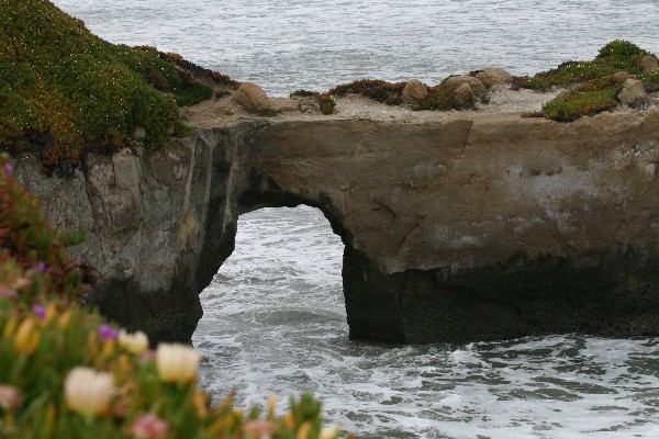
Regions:
<instances>
[{"instance_id":1,"label":"stretch of grey rippled sea beyond the cliff top","mask_svg":"<svg viewBox=\"0 0 659 439\"><path fill-rule=\"evenodd\" d=\"M659 53L657 0L56 0L97 34L156 45L273 94L489 65L535 74L615 38Z\"/></svg>"}]
</instances>

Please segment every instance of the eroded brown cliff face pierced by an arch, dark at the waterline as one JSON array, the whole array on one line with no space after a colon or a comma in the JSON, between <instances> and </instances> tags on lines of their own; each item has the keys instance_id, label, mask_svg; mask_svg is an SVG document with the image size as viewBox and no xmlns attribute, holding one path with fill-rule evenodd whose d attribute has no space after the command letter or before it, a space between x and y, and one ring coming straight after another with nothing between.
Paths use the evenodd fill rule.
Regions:
<instances>
[{"instance_id":1,"label":"eroded brown cliff face pierced by an arch, dark at the waterline","mask_svg":"<svg viewBox=\"0 0 659 439\"><path fill-rule=\"evenodd\" d=\"M239 214L305 203L346 245L350 335L659 334L659 112L246 121L20 179L102 281L103 313L189 340Z\"/></svg>"}]
</instances>

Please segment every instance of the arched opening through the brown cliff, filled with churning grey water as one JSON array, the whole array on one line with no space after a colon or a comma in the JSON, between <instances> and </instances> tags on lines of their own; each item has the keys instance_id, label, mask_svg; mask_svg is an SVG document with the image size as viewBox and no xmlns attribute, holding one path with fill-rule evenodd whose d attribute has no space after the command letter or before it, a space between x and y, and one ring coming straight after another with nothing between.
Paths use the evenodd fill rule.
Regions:
<instances>
[{"instance_id":1,"label":"arched opening through the brown cliff, filled with churning grey water","mask_svg":"<svg viewBox=\"0 0 659 439\"><path fill-rule=\"evenodd\" d=\"M239 336L253 345L281 345L302 333L321 335L327 326L347 336L343 251L319 209L264 207L241 215L232 255L200 295L204 316L194 344L205 349L217 337Z\"/></svg>"}]
</instances>

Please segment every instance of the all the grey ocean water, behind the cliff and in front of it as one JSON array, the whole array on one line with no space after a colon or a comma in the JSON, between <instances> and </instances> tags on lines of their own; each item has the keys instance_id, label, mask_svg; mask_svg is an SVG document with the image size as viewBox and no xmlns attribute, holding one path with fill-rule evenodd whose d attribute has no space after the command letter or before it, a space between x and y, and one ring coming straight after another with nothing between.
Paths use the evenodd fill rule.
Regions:
<instances>
[{"instance_id":1,"label":"all the grey ocean water, behind the cliff and in front of it","mask_svg":"<svg viewBox=\"0 0 659 439\"><path fill-rule=\"evenodd\" d=\"M438 82L591 59L614 38L659 54L657 0L56 0L115 43L177 52L272 95L359 78ZM360 438L659 438L659 338L466 346L348 339L343 245L320 211L243 215L202 293L201 385L281 408L312 391Z\"/></svg>"}]
</instances>

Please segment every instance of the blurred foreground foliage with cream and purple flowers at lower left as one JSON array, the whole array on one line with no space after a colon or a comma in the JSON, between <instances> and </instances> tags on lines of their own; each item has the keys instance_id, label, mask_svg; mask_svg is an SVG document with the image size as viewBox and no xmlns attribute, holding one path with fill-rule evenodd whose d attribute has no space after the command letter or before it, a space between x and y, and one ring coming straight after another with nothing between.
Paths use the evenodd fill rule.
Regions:
<instances>
[{"instance_id":1,"label":"blurred foreground foliage with cream and purple flowers at lower left","mask_svg":"<svg viewBox=\"0 0 659 439\"><path fill-rule=\"evenodd\" d=\"M7 154L0 156L1 438L344 437L322 428L321 404L311 395L291 399L282 417L276 401L263 416L259 408L248 416L233 408L233 395L211 405L197 387L199 357L191 347L146 350L146 339L131 342L76 303L85 285L65 241L15 181ZM191 368L172 365L180 364L172 354Z\"/></svg>"}]
</instances>

